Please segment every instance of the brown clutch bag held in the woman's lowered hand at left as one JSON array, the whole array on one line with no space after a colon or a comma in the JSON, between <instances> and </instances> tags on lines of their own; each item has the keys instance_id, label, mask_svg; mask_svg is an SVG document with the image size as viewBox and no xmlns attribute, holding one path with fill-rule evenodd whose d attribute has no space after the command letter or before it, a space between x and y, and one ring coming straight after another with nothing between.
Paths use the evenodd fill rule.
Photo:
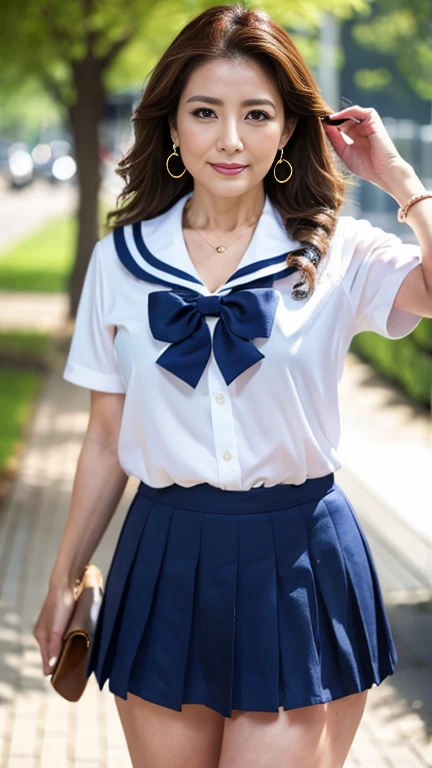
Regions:
<instances>
[{"instance_id":1,"label":"brown clutch bag held in the woman's lowered hand at left","mask_svg":"<svg viewBox=\"0 0 432 768\"><path fill-rule=\"evenodd\" d=\"M55 690L68 701L78 701L87 684L87 662L102 598L102 573L94 563L88 563L81 578L75 580L75 608L51 675Z\"/></svg>"}]
</instances>

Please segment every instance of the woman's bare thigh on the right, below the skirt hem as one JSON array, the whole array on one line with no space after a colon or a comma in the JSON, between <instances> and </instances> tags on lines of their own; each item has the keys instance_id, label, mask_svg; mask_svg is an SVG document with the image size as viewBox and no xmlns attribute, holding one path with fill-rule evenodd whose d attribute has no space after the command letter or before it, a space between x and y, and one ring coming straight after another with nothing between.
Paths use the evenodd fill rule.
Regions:
<instances>
[{"instance_id":1,"label":"woman's bare thigh on the right, below the skirt hem","mask_svg":"<svg viewBox=\"0 0 432 768\"><path fill-rule=\"evenodd\" d=\"M341 768L367 693L279 713L233 710L218 768Z\"/></svg>"}]
</instances>

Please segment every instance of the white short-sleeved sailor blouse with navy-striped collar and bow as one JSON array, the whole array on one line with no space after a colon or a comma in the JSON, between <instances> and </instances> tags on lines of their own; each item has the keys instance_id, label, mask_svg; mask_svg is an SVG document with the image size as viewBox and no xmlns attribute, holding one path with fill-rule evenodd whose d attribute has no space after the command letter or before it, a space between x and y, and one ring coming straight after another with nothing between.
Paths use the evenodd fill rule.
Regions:
<instances>
[{"instance_id":1,"label":"white short-sleeved sailor blouse with navy-striped collar and bow","mask_svg":"<svg viewBox=\"0 0 432 768\"><path fill-rule=\"evenodd\" d=\"M313 294L291 296L300 246L268 196L237 270L215 292L182 230L184 195L92 253L63 378L125 394L118 457L153 487L303 483L341 466L338 384L353 336L408 335L393 307L418 244L340 215Z\"/></svg>"}]
</instances>

